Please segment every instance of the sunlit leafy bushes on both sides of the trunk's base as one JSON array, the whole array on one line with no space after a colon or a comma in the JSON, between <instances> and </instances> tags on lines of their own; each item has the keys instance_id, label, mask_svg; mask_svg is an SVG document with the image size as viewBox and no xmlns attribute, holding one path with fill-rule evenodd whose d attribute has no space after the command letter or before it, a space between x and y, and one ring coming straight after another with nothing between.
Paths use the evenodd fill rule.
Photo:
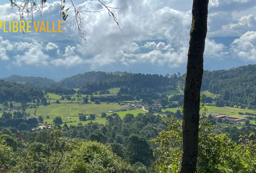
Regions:
<instances>
[{"instance_id":1,"label":"sunlit leafy bushes on both sides of the trunk's base","mask_svg":"<svg viewBox=\"0 0 256 173\"><path fill-rule=\"evenodd\" d=\"M246 145L231 141L225 134L210 133L210 119L205 119L206 109L200 117L199 151L197 156L197 172L255 172L256 155L252 154L255 141L245 136ZM154 152L156 157L155 172L179 172L182 145L182 121L171 117L168 131L161 131L160 136L151 140L159 145Z\"/></svg>"}]
</instances>

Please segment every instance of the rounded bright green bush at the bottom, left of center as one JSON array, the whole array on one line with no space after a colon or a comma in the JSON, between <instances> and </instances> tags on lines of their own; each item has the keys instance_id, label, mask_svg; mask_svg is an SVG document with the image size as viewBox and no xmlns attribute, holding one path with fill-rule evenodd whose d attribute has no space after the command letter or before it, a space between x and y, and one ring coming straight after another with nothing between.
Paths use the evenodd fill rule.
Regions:
<instances>
[{"instance_id":1,"label":"rounded bright green bush at the bottom, left of center","mask_svg":"<svg viewBox=\"0 0 256 173\"><path fill-rule=\"evenodd\" d=\"M111 148L102 143L77 143L72 158L72 172L132 172L131 165L121 161Z\"/></svg>"}]
</instances>

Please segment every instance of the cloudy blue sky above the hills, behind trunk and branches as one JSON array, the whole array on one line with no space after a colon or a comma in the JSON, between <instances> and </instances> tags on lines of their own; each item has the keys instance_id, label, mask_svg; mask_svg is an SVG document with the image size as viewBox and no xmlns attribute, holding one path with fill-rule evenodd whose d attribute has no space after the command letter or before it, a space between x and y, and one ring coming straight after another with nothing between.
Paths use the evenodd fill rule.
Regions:
<instances>
[{"instance_id":1,"label":"cloudy blue sky above the hills, behind trunk and branches","mask_svg":"<svg viewBox=\"0 0 256 173\"><path fill-rule=\"evenodd\" d=\"M0 1L0 78L17 74L59 81L87 71L131 71L143 74L186 73L192 0L104 0L113 17L96 0L75 0L74 6L90 30L86 40L78 35L74 9L60 23L60 1L48 0L33 14L41 28L48 21L52 32L7 32L9 22L20 22L17 8ZM90 12L85 12L90 11ZM32 21L25 15L26 21ZM61 30L63 32L53 32ZM20 23L18 23L20 24ZM31 25L31 23L29 24ZM19 26L19 25L18 25ZM13 28L11 28L13 30ZM47 29L47 27L46 27ZM12 31L11 30L11 31ZM39 29L38 29L39 30ZM4 32L5 31L5 32ZM229 69L256 62L256 1L210 0L204 69Z\"/></svg>"}]
</instances>

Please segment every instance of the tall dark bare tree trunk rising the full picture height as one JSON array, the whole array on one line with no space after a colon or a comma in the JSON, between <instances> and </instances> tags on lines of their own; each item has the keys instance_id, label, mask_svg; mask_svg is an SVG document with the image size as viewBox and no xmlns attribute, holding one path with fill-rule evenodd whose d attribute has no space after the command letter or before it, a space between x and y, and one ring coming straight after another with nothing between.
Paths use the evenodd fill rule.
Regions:
<instances>
[{"instance_id":1,"label":"tall dark bare tree trunk rising the full picture height","mask_svg":"<svg viewBox=\"0 0 256 173\"><path fill-rule=\"evenodd\" d=\"M207 32L208 2L208 0L194 0L192 7L192 27L184 88L180 173L195 172L197 165L200 89Z\"/></svg>"}]
</instances>

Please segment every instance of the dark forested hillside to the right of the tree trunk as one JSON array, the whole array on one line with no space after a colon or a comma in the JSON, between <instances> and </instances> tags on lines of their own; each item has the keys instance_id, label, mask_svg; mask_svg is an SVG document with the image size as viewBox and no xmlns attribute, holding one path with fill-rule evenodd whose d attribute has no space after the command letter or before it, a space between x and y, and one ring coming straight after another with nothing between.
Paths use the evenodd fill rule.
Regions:
<instances>
[{"instance_id":1,"label":"dark forested hillside to the right of the tree trunk","mask_svg":"<svg viewBox=\"0 0 256 173\"><path fill-rule=\"evenodd\" d=\"M202 90L219 94L216 105L256 106L256 65L204 71ZM229 102L228 102L229 101Z\"/></svg>"}]
</instances>

